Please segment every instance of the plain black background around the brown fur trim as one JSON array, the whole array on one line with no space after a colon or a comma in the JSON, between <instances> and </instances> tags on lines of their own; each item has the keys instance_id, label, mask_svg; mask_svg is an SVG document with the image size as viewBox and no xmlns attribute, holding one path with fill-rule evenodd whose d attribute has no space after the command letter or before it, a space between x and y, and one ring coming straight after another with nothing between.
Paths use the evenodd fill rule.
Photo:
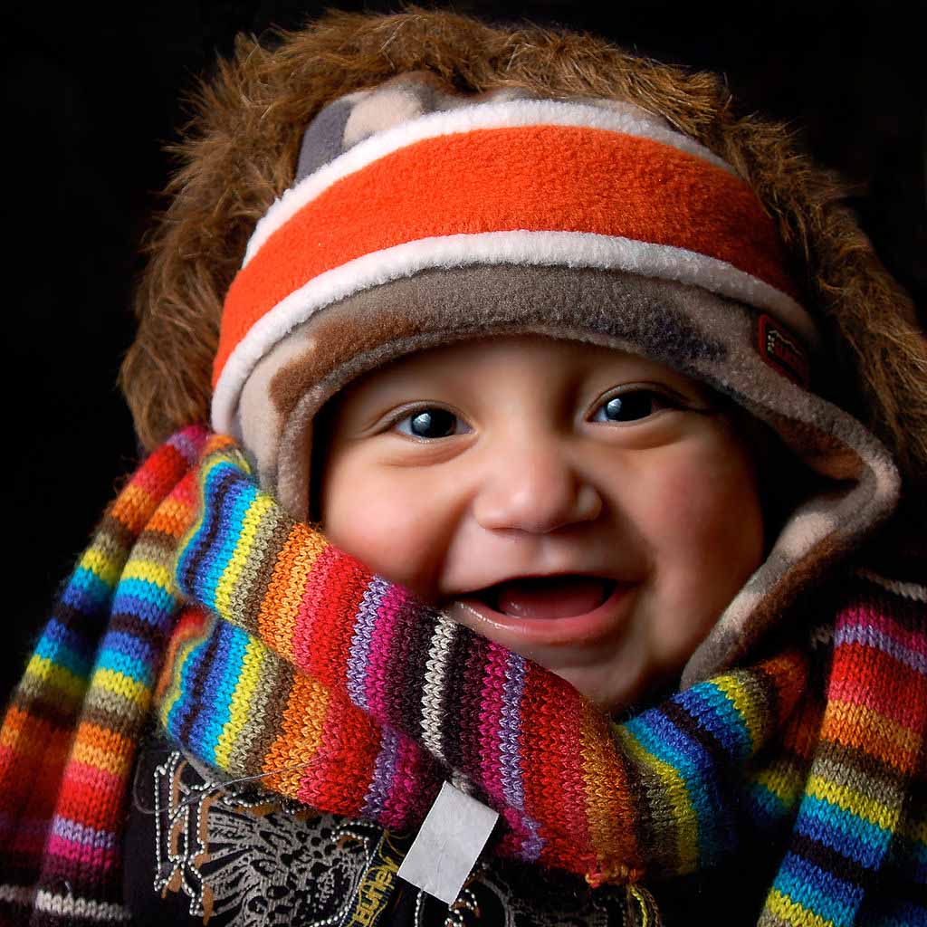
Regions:
<instances>
[{"instance_id":1,"label":"plain black background around the brown fur trim","mask_svg":"<svg viewBox=\"0 0 927 927\"><path fill-rule=\"evenodd\" d=\"M395 11L398 3L334 3ZM423 6L429 6L423 4ZM787 120L859 184L863 227L914 295L927 288L924 51L916 5L437 2L486 19L563 24L665 61L721 71L743 111ZM181 95L236 32L298 27L285 2L7 4L6 577L0 702L57 586L137 459L115 387L133 337L141 235L162 206L162 146ZM921 320L923 315L921 314Z\"/></svg>"}]
</instances>

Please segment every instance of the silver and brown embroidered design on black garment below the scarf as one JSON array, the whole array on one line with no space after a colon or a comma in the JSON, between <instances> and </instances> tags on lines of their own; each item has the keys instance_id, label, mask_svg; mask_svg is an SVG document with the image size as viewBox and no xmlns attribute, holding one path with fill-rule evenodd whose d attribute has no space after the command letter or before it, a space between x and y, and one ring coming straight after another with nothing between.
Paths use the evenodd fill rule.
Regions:
<instances>
[{"instance_id":1,"label":"silver and brown embroidered design on black garment below the scarf","mask_svg":"<svg viewBox=\"0 0 927 927\"><path fill-rule=\"evenodd\" d=\"M182 892L191 916L235 927L298 923L336 927L351 907L382 833L374 824L311 816L288 800L212 779L180 751L154 770L153 889ZM481 861L447 908L412 885L414 927L610 927L623 923L620 893L498 859ZM572 887L571 887L572 886Z\"/></svg>"}]
</instances>

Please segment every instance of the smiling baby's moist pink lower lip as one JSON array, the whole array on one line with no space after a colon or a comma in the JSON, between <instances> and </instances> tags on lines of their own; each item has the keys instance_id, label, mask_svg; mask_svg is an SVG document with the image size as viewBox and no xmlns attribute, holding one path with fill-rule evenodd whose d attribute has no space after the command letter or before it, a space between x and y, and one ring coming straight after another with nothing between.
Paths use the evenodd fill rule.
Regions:
<instances>
[{"instance_id":1,"label":"smiling baby's moist pink lower lip","mask_svg":"<svg viewBox=\"0 0 927 927\"><path fill-rule=\"evenodd\" d=\"M625 623L633 590L631 583L616 583L611 595L592 611L563 618L505 615L472 598L457 599L444 612L490 641L512 649L519 644L569 647L594 643L615 634Z\"/></svg>"}]
</instances>

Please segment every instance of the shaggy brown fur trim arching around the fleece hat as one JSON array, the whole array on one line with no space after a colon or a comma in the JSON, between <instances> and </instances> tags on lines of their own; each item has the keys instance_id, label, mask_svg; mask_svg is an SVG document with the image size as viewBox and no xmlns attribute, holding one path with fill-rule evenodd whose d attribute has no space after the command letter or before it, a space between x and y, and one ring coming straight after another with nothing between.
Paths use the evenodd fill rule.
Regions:
<instances>
[{"instance_id":1,"label":"shaggy brown fur trim arching around the fleece hat","mask_svg":"<svg viewBox=\"0 0 927 927\"><path fill-rule=\"evenodd\" d=\"M293 181L307 123L339 95L427 70L464 93L518 86L629 100L727 160L777 222L806 308L824 330L813 388L882 438L909 485L927 480L927 343L908 295L843 205L844 184L782 124L735 114L719 76L587 33L494 27L416 6L329 11L276 41L271 50L238 37L234 57L199 86L172 149L181 167L146 244L139 330L120 377L147 448L209 419L222 299L255 223Z\"/></svg>"}]
</instances>

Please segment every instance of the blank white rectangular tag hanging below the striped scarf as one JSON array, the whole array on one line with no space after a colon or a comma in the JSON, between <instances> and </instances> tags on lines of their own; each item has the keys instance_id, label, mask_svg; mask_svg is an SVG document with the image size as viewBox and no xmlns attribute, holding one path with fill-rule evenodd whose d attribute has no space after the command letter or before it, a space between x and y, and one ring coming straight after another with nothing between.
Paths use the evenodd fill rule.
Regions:
<instances>
[{"instance_id":1,"label":"blank white rectangular tag hanging below the striped scarf","mask_svg":"<svg viewBox=\"0 0 927 927\"><path fill-rule=\"evenodd\" d=\"M498 818L498 811L444 782L398 875L452 905Z\"/></svg>"}]
</instances>

